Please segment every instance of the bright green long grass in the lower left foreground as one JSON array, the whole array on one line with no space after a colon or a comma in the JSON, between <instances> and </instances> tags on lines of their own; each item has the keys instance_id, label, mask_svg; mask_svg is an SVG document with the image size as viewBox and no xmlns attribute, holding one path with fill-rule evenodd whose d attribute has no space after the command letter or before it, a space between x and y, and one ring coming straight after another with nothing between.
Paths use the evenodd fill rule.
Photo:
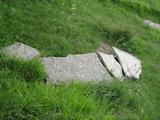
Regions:
<instances>
[{"instance_id":1,"label":"bright green long grass in the lower left foreground","mask_svg":"<svg viewBox=\"0 0 160 120\"><path fill-rule=\"evenodd\" d=\"M4 74L5 73L5 74ZM83 95L83 86L49 86L44 83L26 83L20 76L9 70L3 70L1 80L1 113L0 118L15 119L104 119L112 118L102 105L91 96ZM8 75L6 78L5 75ZM76 93L76 94L75 94ZM105 105L105 104L104 104ZM105 105L106 106L106 105ZM105 107L105 110L108 106ZM106 114L106 115L104 115Z\"/></svg>"}]
</instances>

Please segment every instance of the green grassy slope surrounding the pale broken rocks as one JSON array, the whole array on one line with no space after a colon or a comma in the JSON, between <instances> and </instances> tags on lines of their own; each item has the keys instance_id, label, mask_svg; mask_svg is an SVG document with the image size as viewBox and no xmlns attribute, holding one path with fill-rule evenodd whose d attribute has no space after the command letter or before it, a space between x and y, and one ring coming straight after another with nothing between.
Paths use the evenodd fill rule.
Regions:
<instances>
[{"instance_id":1,"label":"green grassy slope surrounding the pale broken rocks","mask_svg":"<svg viewBox=\"0 0 160 120\"><path fill-rule=\"evenodd\" d=\"M157 10L154 1L141 4ZM0 47L21 41L43 56L66 56L95 51L103 40L140 58L143 74L136 82L50 86L38 61L1 56L0 119L160 119L160 31L143 25L160 18L141 9L110 0L1 0Z\"/></svg>"}]
</instances>

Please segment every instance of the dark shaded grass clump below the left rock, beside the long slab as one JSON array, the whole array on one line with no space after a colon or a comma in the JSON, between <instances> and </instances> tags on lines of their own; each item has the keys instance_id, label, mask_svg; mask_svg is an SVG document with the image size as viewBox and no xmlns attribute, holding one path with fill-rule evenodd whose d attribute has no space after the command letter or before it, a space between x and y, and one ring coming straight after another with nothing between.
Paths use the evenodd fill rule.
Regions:
<instances>
[{"instance_id":1,"label":"dark shaded grass clump below the left rock, beside the long slab","mask_svg":"<svg viewBox=\"0 0 160 120\"><path fill-rule=\"evenodd\" d=\"M0 55L0 69L9 69L20 75L28 82L36 80L43 81L45 79L45 72L40 60L33 59L30 61L19 60L16 58Z\"/></svg>"}]
</instances>

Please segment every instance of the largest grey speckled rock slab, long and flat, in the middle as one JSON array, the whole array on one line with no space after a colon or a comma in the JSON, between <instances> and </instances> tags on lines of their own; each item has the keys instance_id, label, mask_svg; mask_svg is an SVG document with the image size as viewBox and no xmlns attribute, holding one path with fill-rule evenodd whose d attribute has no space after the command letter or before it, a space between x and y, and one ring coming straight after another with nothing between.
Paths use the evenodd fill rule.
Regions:
<instances>
[{"instance_id":1,"label":"largest grey speckled rock slab, long and flat, in the middle","mask_svg":"<svg viewBox=\"0 0 160 120\"><path fill-rule=\"evenodd\" d=\"M70 55L68 57L45 57L42 61L47 75L47 82L49 83L112 79L96 53Z\"/></svg>"}]
</instances>

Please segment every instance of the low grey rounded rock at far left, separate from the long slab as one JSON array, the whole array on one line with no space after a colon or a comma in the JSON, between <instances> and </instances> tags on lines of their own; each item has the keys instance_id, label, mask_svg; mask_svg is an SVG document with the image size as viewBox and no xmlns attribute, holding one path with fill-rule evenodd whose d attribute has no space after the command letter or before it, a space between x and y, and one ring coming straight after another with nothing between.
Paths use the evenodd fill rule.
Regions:
<instances>
[{"instance_id":1,"label":"low grey rounded rock at far left, separate from the long slab","mask_svg":"<svg viewBox=\"0 0 160 120\"><path fill-rule=\"evenodd\" d=\"M15 56L25 60L30 60L40 55L40 53L35 48L20 42L16 42L13 45L2 48L1 52L7 54L8 56Z\"/></svg>"}]
</instances>

